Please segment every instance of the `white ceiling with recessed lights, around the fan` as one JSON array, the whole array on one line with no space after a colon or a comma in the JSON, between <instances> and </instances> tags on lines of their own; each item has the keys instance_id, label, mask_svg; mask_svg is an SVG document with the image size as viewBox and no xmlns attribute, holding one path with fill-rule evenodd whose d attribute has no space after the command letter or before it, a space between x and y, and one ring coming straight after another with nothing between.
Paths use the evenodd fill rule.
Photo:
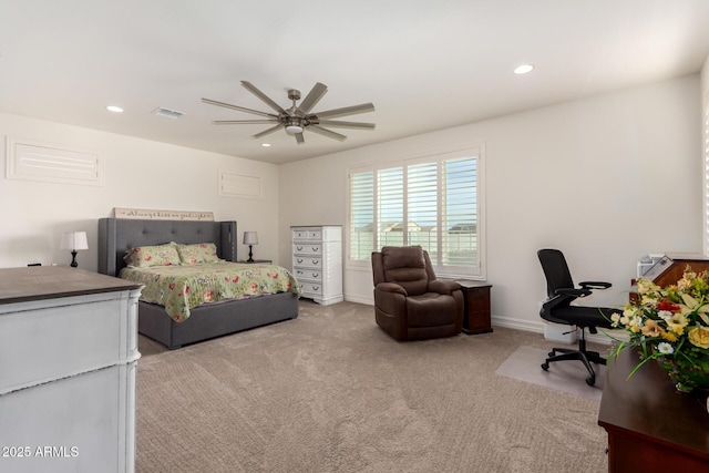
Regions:
<instances>
[{"instance_id":1,"label":"white ceiling with recessed lights, around the fan","mask_svg":"<svg viewBox=\"0 0 709 473\"><path fill-rule=\"evenodd\" d=\"M0 0L0 111L287 163L696 73L708 54L709 0ZM242 80L285 109L322 82L314 112L372 102L338 120L377 130L297 145L210 124L258 116L202 97L270 112Z\"/></svg>"}]
</instances>

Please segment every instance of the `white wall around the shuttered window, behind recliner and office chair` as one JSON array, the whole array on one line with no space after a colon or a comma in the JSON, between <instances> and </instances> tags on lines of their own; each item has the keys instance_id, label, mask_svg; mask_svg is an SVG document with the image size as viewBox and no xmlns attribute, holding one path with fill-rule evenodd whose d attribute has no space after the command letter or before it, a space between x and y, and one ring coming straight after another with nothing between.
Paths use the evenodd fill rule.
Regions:
<instances>
[{"instance_id":1,"label":"white wall around the shuttered window, behind recliner and office chair","mask_svg":"<svg viewBox=\"0 0 709 473\"><path fill-rule=\"evenodd\" d=\"M700 115L691 75L284 165L280 260L289 225L345 225L348 166L484 143L494 322L542 329L543 247L614 284L588 304L623 305L640 256L701 251ZM346 269L345 296L371 304L371 271Z\"/></svg>"}]
</instances>

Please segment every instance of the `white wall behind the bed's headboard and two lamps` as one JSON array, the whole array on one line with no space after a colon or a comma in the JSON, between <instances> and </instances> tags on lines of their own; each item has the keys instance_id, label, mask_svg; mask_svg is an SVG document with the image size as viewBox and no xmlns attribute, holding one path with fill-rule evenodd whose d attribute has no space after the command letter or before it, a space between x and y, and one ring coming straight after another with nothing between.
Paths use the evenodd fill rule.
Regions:
<instances>
[{"instance_id":1,"label":"white wall behind the bed's headboard and two lamps","mask_svg":"<svg viewBox=\"0 0 709 473\"><path fill-rule=\"evenodd\" d=\"M85 230L90 249L79 253L79 267L96 270L96 222L114 207L214 212L217 220L237 220L239 243L244 230L258 232L255 257L276 259L277 165L1 113L0 136L90 150L104 163L101 187L8 179L2 146L0 267L68 265L62 232ZM264 198L219 197L218 169L261 177ZM238 251L246 256L248 248Z\"/></svg>"}]
</instances>

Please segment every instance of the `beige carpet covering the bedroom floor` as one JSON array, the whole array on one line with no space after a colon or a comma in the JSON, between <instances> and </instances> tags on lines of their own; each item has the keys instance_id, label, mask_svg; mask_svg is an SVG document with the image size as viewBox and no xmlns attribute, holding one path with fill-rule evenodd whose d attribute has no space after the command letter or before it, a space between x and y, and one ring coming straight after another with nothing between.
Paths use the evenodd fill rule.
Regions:
<instances>
[{"instance_id":1,"label":"beige carpet covering the bedroom floor","mask_svg":"<svg viewBox=\"0 0 709 473\"><path fill-rule=\"evenodd\" d=\"M372 308L166 351L141 338L137 472L605 472L598 402L495 371L537 333L399 343Z\"/></svg>"}]
</instances>

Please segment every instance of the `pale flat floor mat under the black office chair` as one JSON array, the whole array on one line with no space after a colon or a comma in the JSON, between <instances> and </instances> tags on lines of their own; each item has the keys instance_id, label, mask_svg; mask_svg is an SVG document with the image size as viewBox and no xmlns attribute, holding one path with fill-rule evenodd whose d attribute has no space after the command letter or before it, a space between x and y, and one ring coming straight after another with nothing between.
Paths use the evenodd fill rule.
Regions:
<instances>
[{"instance_id":1,"label":"pale flat floor mat under the black office chair","mask_svg":"<svg viewBox=\"0 0 709 473\"><path fill-rule=\"evenodd\" d=\"M543 385L555 391L600 402L606 377L605 366L593 364L594 371L596 371L596 383L592 387L586 384L588 371L580 361L553 362L549 363L548 371L544 371L541 364L546 360L548 351L549 350L534 347L520 347L495 372L521 381ZM605 353L602 352L602 354Z\"/></svg>"}]
</instances>

